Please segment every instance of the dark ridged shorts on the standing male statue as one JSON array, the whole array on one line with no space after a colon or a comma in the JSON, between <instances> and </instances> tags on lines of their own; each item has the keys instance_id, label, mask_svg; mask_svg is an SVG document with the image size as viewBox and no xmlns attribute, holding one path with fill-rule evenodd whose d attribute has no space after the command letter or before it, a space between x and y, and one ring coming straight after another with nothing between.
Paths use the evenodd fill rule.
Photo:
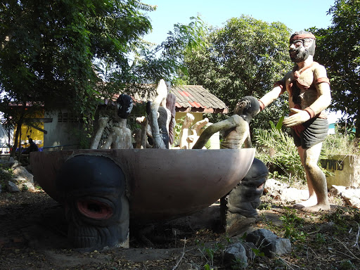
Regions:
<instances>
[{"instance_id":1,"label":"dark ridged shorts on the standing male statue","mask_svg":"<svg viewBox=\"0 0 360 270\"><path fill-rule=\"evenodd\" d=\"M294 129L291 129L291 135L297 147L311 148L311 146L321 143L328 135L329 124L327 119L313 118L302 125L305 130L301 132L300 136L296 134Z\"/></svg>"}]
</instances>

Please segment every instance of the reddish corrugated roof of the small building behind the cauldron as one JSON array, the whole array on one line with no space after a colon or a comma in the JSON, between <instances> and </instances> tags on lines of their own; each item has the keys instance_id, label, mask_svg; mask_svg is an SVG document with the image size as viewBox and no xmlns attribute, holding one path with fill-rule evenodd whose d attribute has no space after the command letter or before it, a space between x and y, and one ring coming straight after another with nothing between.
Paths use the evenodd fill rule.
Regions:
<instances>
[{"instance_id":1,"label":"reddish corrugated roof of the small building behind the cauldron","mask_svg":"<svg viewBox=\"0 0 360 270\"><path fill-rule=\"evenodd\" d=\"M176 96L176 112L229 113L223 101L201 85L172 86Z\"/></svg>"}]
</instances>

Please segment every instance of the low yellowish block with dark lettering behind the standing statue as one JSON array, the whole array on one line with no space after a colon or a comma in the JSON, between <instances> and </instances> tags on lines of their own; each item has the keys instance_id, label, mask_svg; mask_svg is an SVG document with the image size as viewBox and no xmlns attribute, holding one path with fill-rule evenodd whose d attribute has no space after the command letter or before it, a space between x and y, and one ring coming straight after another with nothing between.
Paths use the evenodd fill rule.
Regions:
<instances>
[{"instance_id":1,"label":"low yellowish block with dark lettering behind the standing statue","mask_svg":"<svg viewBox=\"0 0 360 270\"><path fill-rule=\"evenodd\" d=\"M333 176L326 176L328 188L336 186L360 186L360 156L358 155L328 155L320 160L321 167L332 172Z\"/></svg>"}]
</instances>

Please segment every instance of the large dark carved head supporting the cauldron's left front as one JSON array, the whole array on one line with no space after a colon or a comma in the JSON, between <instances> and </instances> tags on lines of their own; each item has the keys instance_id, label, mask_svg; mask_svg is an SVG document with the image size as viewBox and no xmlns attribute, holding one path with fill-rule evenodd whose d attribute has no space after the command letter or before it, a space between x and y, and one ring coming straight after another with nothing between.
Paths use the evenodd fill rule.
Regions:
<instances>
[{"instance_id":1,"label":"large dark carved head supporting the cauldron's left front","mask_svg":"<svg viewBox=\"0 0 360 270\"><path fill-rule=\"evenodd\" d=\"M77 155L56 179L69 222L68 238L83 251L120 246L129 233L125 176L110 158Z\"/></svg>"}]
</instances>

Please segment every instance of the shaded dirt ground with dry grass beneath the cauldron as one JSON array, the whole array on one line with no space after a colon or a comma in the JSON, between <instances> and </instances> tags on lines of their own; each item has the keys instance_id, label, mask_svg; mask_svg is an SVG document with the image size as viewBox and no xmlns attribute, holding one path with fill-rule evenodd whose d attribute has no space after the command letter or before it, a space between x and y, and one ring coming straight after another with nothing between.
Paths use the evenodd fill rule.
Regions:
<instances>
[{"instance_id":1,"label":"shaded dirt ground with dry grass beneath the cauldron","mask_svg":"<svg viewBox=\"0 0 360 270\"><path fill-rule=\"evenodd\" d=\"M305 214L263 196L259 221L290 238L292 252L259 254L248 269L360 269L360 214L333 198L329 213ZM80 253L66 238L63 208L43 191L0 193L0 269L239 269L226 263L229 238L219 229L219 207L157 224L132 222L130 248Z\"/></svg>"}]
</instances>

